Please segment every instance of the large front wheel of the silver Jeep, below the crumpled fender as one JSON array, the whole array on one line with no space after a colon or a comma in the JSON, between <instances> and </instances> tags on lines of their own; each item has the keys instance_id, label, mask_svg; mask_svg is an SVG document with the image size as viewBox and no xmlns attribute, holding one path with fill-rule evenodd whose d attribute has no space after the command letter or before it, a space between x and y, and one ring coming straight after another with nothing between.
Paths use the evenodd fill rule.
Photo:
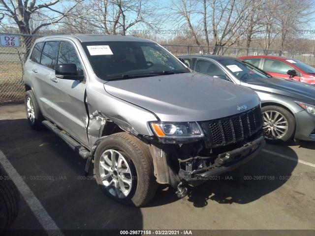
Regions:
<instances>
[{"instance_id":1,"label":"large front wheel of the silver Jeep, below the crumpled fender","mask_svg":"<svg viewBox=\"0 0 315 236\"><path fill-rule=\"evenodd\" d=\"M112 134L99 144L94 165L97 183L119 203L141 207L157 191L149 148L126 132Z\"/></svg>"}]
</instances>

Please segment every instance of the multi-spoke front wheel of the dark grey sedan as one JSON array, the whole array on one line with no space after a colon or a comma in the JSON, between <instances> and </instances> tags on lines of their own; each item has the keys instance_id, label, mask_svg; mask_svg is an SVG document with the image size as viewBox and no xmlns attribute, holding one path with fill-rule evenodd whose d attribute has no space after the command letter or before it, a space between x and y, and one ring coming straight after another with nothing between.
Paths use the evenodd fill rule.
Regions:
<instances>
[{"instance_id":1,"label":"multi-spoke front wheel of the dark grey sedan","mask_svg":"<svg viewBox=\"0 0 315 236\"><path fill-rule=\"evenodd\" d=\"M265 106L261 112L264 119L262 128L268 143L284 143L292 138L296 123L289 111L278 106Z\"/></svg>"}]
</instances>

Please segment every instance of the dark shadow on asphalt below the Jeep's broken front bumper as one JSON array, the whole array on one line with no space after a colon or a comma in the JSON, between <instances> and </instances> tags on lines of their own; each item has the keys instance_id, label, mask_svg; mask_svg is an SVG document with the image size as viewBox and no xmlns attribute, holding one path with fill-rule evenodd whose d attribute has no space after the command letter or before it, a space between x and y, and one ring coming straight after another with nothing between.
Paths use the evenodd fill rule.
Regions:
<instances>
[{"instance_id":1,"label":"dark shadow on asphalt below the Jeep's broken front bumper","mask_svg":"<svg viewBox=\"0 0 315 236\"><path fill-rule=\"evenodd\" d=\"M283 146L282 149L290 157L298 159L291 148ZM250 162L236 170L190 188L186 198L194 207L206 207L209 201L220 204L248 204L284 185L296 165L295 161L260 152ZM171 187L159 189L157 195L149 206L159 206L178 200L175 190Z\"/></svg>"}]
</instances>

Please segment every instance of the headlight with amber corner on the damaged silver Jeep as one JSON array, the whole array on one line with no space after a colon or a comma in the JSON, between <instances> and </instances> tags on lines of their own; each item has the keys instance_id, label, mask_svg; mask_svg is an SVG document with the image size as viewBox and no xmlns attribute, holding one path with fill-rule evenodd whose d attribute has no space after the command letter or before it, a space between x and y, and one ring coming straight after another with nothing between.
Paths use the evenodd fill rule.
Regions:
<instances>
[{"instance_id":1,"label":"headlight with amber corner on the damaged silver Jeep","mask_svg":"<svg viewBox=\"0 0 315 236\"><path fill-rule=\"evenodd\" d=\"M204 134L197 122L150 122L153 132L161 143L194 142Z\"/></svg>"}]
</instances>

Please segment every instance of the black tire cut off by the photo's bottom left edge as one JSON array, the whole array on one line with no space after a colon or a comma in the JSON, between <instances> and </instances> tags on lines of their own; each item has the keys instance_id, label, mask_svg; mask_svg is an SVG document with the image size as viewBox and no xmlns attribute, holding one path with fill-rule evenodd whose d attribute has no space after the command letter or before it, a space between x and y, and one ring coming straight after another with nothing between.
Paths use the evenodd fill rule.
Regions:
<instances>
[{"instance_id":1,"label":"black tire cut off by the photo's bottom left edge","mask_svg":"<svg viewBox=\"0 0 315 236\"><path fill-rule=\"evenodd\" d=\"M20 195L13 181L0 169L0 235L17 217Z\"/></svg>"}]
</instances>

